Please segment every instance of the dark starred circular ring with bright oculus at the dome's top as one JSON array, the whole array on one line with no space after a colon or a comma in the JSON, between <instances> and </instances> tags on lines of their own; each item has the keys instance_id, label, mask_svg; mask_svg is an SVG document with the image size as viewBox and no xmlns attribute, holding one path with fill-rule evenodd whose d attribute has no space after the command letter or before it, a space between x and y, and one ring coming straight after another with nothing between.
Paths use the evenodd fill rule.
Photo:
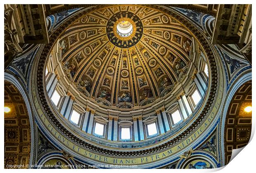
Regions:
<instances>
[{"instance_id":1,"label":"dark starred circular ring with bright oculus at the dome's top","mask_svg":"<svg viewBox=\"0 0 256 173\"><path fill-rule=\"evenodd\" d=\"M117 47L128 48L134 46L142 37L142 33L142 22L132 12L118 12L111 16L107 23L109 41Z\"/></svg>"}]
</instances>

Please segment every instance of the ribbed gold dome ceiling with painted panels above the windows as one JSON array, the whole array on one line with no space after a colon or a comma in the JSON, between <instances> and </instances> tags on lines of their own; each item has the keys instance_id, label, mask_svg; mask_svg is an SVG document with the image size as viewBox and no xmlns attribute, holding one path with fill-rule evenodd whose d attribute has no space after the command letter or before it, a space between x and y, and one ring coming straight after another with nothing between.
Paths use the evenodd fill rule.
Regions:
<instances>
[{"instance_id":1,"label":"ribbed gold dome ceiling with painted panels above the windows","mask_svg":"<svg viewBox=\"0 0 256 173\"><path fill-rule=\"evenodd\" d=\"M127 20L133 33L119 37ZM135 30L135 31L134 31ZM114 6L73 22L59 39L69 81L104 106L133 108L171 93L188 71L192 36L178 21L143 6Z\"/></svg>"}]
</instances>

